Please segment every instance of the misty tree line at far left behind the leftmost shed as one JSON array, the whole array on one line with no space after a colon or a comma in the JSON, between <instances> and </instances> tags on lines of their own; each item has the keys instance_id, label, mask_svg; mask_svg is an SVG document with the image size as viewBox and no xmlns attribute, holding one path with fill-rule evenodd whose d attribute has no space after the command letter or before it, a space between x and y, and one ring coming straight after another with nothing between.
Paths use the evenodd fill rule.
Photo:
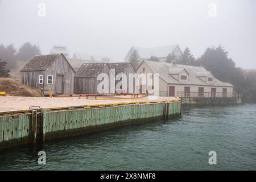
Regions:
<instances>
[{"instance_id":1,"label":"misty tree line at far left behind the leftmost shed","mask_svg":"<svg viewBox=\"0 0 256 182\"><path fill-rule=\"evenodd\" d=\"M30 42L24 43L17 50L13 44L0 45L0 77L8 77L9 69L16 68L17 61L29 61L35 55L40 55L40 48Z\"/></svg>"}]
</instances>

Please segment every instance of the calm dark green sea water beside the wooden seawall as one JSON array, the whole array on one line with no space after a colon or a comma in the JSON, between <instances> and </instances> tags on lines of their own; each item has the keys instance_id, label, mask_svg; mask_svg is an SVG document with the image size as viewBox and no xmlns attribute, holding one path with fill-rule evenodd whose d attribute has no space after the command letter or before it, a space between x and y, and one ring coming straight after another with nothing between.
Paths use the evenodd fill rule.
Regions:
<instances>
[{"instance_id":1,"label":"calm dark green sea water beside the wooden seawall","mask_svg":"<svg viewBox=\"0 0 256 182\"><path fill-rule=\"evenodd\" d=\"M0 153L0 169L256 169L256 105L183 107L170 121L47 142ZM46 151L46 165L38 151ZM209 165L209 151L217 164Z\"/></svg>"}]
</instances>

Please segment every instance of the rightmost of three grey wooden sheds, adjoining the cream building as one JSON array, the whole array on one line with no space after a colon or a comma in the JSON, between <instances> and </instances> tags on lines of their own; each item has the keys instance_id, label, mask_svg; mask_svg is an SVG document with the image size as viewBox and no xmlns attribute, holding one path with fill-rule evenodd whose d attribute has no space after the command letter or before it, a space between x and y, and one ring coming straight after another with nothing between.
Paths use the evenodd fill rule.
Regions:
<instances>
[{"instance_id":1,"label":"rightmost of three grey wooden sheds, adjoining the cream building","mask_svg":"<svg viewBox=\"0 0 256 182\"><path fill-rule=\"evenodd\" d=\"M129 80L129 74L134 74L136 73L133 65L129 62L129 63L108 63L110 69L114 69L115 71L115 76L117 76L119 73L123 73L126 75L127 78L127 89L126 90L121 90L122 93L129 93L129 82L130 84L133 82L133 92L132 93L137 93L136 92L136 88L135 88L135 81L137 78L134 78L133 80ZM116 80L115 81L115 85L117 85L119 81ZM118 92L118 90L115 90L116 92Z\"/></svg>"}]
</instances>

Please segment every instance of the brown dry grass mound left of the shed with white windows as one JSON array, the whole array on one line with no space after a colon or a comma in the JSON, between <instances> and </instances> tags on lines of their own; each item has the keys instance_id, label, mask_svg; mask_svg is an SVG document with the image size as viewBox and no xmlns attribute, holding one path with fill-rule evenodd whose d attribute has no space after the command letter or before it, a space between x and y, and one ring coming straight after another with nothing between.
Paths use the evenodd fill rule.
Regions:
<instances>
[{"instance_id":1,"label":"brown dry grass mound left of the shed with white windows","mask_svg":"<svg viewBox=\"0 0 256 182\"><path fill-rule=\"evenodd\" d=\"M0 78L0 92L9 96L39 97L40 90L20 84L13 78Z\"/></svg>"}]
</instances>

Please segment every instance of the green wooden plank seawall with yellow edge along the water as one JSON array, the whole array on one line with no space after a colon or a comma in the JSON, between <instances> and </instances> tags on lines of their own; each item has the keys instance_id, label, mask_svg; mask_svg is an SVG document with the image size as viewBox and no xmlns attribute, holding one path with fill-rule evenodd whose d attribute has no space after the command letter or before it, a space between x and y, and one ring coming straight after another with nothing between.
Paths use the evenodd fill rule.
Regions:
<instances>
[{"instance_id":1,"label":"green wooden plank seawall with yellow edge along the water","mask_svg":"<svg viewBox=\"0 0 256 182\"><path fill-rule=\"evenodd\" d=\"M180 107L180 101L135 102L0 113L0 150L168 119L179 115Z\"/></svg>"}]
</instances>

